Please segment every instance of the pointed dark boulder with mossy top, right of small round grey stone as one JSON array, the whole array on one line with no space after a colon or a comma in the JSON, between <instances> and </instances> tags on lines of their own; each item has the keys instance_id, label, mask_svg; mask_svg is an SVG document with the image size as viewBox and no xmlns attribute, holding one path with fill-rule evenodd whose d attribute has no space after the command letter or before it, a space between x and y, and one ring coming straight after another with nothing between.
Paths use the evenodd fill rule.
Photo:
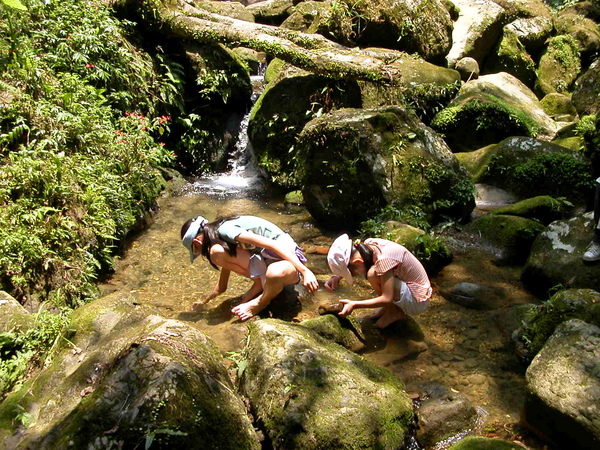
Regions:
<instances>
[{"instance_id":1,"label":"pointed dark boulder with mossy top, right of small round grey stone","mask_svg":"<svg viewBox=\"0 0 600 450\"><path fill-rule=\"evenodd\" d=\"M527 87L533 88L536 71L535 62L525 46L519 41L517 33L505 28L496 47L485 59L482 73L506 72Z\"/></svg>"}]
</instances>

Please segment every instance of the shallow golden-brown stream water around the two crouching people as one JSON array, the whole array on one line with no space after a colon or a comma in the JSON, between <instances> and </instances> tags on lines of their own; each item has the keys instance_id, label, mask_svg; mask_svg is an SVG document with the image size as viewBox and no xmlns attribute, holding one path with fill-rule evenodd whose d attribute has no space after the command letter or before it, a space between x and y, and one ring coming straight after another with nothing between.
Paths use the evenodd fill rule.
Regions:
<instances>
[{"instance_id":1,"label":"shallow golden-brown stream water around the two crouching people","mask_svg":"<svg viewBox=\"0 0 600 450\"><path fill-rule=\"evenodd\" d=\"M277 199L189 191L160 199L160 211L154 222L132 241L118 261L115 275L101 286L101 291L135 294L141 303L156 307L161 315L183 320L205 332L226 354L243 345L246 324L229 310L249 288L250 281L232 274L225 294L209 302L203 311L192 312L191 303L210 292L218 271L203 259L189 263L179 239L182 223L198 214L209 220L239 213L262 216L287 230L305 249L308 265L321 284L329 276L323 249L335 235L319 230L305 210L286 211ZM385 330L385 342L364 356L398 374L410 393L419 394L421 384L427 381L463 393L485 411L481 433L515 437L525 382L523 369L507 344L509 336L498 326L506 321L503 312L507 309L469 310L446 301L439 292L469 281L493 284L508 292L505 306L534 301L520 287L518 277L518 268L498 267L485 252L476 249L455 252L453 263L432 280L436 291L432 307L416 317L417 332L408 333L402 326L392 326ZM370 295L364 280L333 294L321 288L313 295L302 295L302 307L286 320L314 317L319 305L339 298ZM359 314L368 312L358 310Z\"/></svg>"}]
</instances>

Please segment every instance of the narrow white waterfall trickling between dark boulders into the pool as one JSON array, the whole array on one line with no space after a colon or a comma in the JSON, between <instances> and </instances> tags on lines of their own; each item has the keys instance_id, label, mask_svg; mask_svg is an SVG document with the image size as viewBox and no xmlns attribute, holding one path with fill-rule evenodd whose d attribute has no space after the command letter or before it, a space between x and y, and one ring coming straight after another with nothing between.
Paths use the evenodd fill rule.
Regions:
<instances>
[{"instance_id":1,"label":"narrow white waterfall trickling between dark boulders into the pool","mask_svg":"<svg viewBox=\"0 0 600 450\"><path fill-rule=\"evenodd\" d=\"M250 77L252 82L252 104L265 87L265 70L266 64L261 63L258 73ZM250 112L246 113L240 123L238 139L229 158L230 169L227 172L208 175L195 181L186 189L189 194L202 192L218 196L232 196L248 194L261 189L262 177L256 165L252 144L248 139Z\"/></svg>"}]
</instances>

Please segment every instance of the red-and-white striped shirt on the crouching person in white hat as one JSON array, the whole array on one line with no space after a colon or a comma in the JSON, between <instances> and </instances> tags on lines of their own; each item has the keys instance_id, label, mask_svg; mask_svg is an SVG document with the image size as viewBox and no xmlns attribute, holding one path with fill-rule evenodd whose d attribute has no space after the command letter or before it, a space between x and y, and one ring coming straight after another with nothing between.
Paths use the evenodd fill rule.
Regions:
<instances>
[{"instance_id":1,"label":"red-and-white striped shirt on the crouching person in white hat","mask_svg":"<svg viewBox=\"0 0 600 450\"><path fill-rule=\"evenodd\" d=\"M393 270L394 276L406 283L417 302L429 300L433 290L427 272L406 247L386 239L370 238L365 244L374 248L373 268L382 276Z\"/></svg>"}]
</instances>

